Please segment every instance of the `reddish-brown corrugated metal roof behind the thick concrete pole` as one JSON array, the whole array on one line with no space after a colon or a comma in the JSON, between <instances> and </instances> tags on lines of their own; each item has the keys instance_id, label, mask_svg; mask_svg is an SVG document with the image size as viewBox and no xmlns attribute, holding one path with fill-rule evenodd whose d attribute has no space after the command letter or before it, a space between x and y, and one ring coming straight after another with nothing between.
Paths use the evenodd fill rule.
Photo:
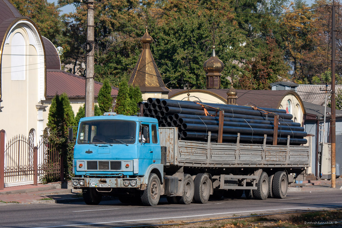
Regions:
<instances>
[{"instance_id":1,"label":"reddish-brown corrugated metal roof behind the thick concrete pole","mask_svg":"<svg viewBox=\"0 0 342 228\"><path fill-rule=\"evenodd\" d=\"M94 95L102 87L101 82L95 81ZM63 70L47 70L46 72L46 96L52 98L56 94L66 93L69 98L84 98L86 95L86 78L65 72ZM118 88L112 87L112 97L118 95Z\"/></svg>"}]
</instances>

